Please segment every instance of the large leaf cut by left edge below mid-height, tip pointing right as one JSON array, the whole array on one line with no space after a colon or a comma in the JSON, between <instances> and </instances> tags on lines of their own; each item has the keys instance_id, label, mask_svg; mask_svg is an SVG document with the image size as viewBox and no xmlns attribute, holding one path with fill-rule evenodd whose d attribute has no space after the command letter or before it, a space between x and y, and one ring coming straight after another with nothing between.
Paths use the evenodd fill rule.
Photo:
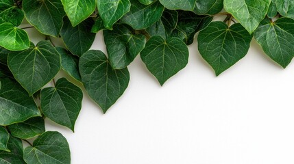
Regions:
<instances>
[{"instance_id":1,"label":"large leaf cut by left edge below mid-height, tip pointing right","mask_svg":"<svg viewBox=\"0 0 294 164\"><path fill-rule=\"evenodd\" d=\"M1 79L0 89L0 125L6 126L23 122L29 118L40 116L34 99L18 83L10 79Z\"/></svg>"}]
</instances>

